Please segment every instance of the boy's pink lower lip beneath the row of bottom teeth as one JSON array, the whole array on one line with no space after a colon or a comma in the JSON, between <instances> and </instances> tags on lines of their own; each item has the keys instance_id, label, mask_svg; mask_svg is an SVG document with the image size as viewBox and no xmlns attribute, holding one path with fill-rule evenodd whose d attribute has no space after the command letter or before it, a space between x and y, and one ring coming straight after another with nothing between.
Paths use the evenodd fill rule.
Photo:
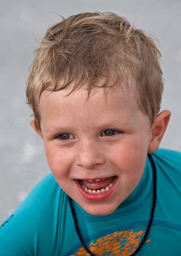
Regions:
<instances>
[{"instance_id":1,"label":"boy's pink lower lip beneath the row of bottom teeth","mask_svg":"<svg viewBox=\"0 0 181 256\"><path fill-rule=\"evenodd\" d=\"M86 198L87 200L90 200L90 201L103 201L106 198L108 198L112 194L112 192L114 191L115 185L117 183L117 178L116 178L116 181L114 182L113 186L108 191L105 191L105 192L99 193L99 194L87 193L81 187L78 180L74 180L74 181L75 181L76 187L79 189L81 195L83 195L84 198Z\"/></svg>"}]
</instances>

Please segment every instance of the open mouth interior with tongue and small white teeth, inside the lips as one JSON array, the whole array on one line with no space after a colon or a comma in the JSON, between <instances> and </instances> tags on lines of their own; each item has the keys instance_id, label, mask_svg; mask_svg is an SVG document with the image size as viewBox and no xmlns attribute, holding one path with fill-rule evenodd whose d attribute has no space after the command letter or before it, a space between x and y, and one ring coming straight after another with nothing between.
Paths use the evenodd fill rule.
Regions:
<instances>
[{"instance_id":1,"label":"open mouth interior with tongue and small white teeth, inside the lips","mask_svg":"<svg viewBox=\"0 0 181 256\"><path fill-rule=\"evenodd\" d=\"M115 183L117 176L98 180L79 180L79 184L89 194L107 192Z\"/></svg>"}]
</instances>

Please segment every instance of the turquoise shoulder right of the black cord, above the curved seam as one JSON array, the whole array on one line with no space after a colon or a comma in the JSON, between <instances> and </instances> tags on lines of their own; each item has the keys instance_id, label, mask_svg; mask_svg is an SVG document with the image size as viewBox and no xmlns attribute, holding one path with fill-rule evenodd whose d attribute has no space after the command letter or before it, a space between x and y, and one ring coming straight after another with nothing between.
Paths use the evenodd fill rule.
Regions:
<instances>
[{"instance_id":1,"label":"turquoise shoulder right of the black cord, above the curved seam","mask_svg":"<svg viewBox=\"0 0 181 256\"><path fill-rule=\"evenodd\" d=\"M180 230L181 153L168 149L158 149L152 155L157 167L155 218L162 222L175 223L174 225L177 225Z\"/></svg>"}]
</instances>

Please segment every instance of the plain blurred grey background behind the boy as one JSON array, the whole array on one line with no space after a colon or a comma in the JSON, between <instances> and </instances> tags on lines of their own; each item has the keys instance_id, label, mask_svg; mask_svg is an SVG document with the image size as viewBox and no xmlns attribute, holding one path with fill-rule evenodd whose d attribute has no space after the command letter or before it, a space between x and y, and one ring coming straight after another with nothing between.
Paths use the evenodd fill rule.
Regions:
<instances>
[{"instance_id":1,"label":"plain blurred grey background behind the boy","mask_svg":"<svg viewBox=\"0 0 181 256\"><path fill-rule=\"evenodd\" d=\"M181 0L0 0L0 223L50 172L42 140L30 127L25 104L36 38L85 11L111 11L159 39L165 78L162 110L172 112L161 147L181 151Z\"/></svg>"}]
</instances>

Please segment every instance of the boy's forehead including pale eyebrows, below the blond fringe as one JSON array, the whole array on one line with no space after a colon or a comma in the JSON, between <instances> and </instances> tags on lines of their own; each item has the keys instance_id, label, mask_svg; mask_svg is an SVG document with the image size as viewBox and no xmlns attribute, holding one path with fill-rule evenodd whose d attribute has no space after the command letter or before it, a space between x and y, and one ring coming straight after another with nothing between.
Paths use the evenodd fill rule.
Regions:
<instances>
[{"instance_id":1,"label":"boy's forehead including pale eyebrows, below the blond fringe","mask_svg":"<svg viewBox=\"0 0 181 256\"><path fill-rule=\"evenodd\" d=\"M123 90L111 89L105 94L104 89L96 88L89 97L87 90L82 88L68 93L69 89L42 93L39 111L44 131L61 126L86 130L148 123L133 95Z\"/></svg>"}]
</instances>

